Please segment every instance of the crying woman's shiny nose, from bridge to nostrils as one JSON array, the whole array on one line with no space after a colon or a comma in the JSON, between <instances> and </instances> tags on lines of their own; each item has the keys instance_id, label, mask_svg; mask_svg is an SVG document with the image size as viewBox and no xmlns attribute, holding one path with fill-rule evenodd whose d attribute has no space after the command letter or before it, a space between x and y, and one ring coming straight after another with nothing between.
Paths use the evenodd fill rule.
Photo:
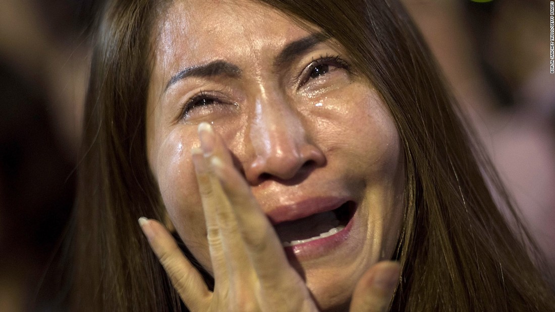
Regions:
<instances>
[{"instance_id":1,"label":"crying woman's shiny nose, from bridge to nostrils","mask_svg":"<svg viewBox=\"0 0 555 312\"><path fill-rule=\"evenodd\" d=\"M245 176L252 185L298 178L326 162L299 112L284 99L256 101L249 136L254 160L245 166Z\"/></svg>"}]
</instances>

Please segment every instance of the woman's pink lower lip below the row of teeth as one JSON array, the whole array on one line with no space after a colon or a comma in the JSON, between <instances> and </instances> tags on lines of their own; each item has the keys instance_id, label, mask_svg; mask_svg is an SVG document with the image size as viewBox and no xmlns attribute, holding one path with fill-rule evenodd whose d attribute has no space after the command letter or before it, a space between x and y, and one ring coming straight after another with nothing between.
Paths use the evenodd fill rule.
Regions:
<instances>
[{"instance_id":1,"label":"woman's pink lower lip below the row of teeth","mask_svg":"<svg viewBox=\"0 0 555 312\"><path fill-rule=\"evenodd\" d=\"M349 238L355 217L356 209L354 215L349 220L349 223L347 223L345 228L341 231L328 237L315 239L314 241L284 247L285 254L287 257L294 258L296 260L315 259L329 254L332 250L338 248L347 240L347 238Z\"/></svg>"}]
</instances>

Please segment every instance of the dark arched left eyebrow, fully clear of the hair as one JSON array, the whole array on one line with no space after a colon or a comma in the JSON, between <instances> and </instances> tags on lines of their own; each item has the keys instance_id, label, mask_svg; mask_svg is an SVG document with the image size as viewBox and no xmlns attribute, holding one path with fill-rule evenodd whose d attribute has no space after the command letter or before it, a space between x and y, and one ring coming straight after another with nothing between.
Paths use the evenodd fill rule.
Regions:
<instances>
[{"instance_id":1,"label":"dark arched left eyebrow, fully clear of the hair","mask_svg":"<svg viewBox=\"0 0 555 312\"><path fill-rule=\"evenodd\" d=\"M168 90L171 85L177 83L179 80L188 77L211 77L219 75L236 78L241 75L241 69L237 65L225 62L223 60L215 60L214 62L210 62L205 65L196 65L193 67L185 68L184 70L179 71L179 73L170 78L168 84L166 84L165 90Z\"/></svg>"}]
</instances>

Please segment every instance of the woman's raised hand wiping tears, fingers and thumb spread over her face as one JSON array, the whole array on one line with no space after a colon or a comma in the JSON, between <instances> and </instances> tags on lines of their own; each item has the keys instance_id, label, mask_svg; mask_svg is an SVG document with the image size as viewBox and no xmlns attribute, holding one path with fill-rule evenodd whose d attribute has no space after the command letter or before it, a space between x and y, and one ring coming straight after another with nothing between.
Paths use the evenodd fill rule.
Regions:
<instances>
[{"instance_id":1,"label":"woman's raised hand wiping tears, fingers and thumb spread over her face","mask_svg":"<svg viewBox=\"0 0 555 312\"><path fill-rule=\"evenodd\" d=\"M215 286L181 253L162 224L139 219L145 236L191 311L317 311L304 280L291 267L245 179L233 166L221 138L199 126L201 150L193 150ZM357 284L351 311L385 311L399 266L381 262Z\"/></svg>"}]
</instances>

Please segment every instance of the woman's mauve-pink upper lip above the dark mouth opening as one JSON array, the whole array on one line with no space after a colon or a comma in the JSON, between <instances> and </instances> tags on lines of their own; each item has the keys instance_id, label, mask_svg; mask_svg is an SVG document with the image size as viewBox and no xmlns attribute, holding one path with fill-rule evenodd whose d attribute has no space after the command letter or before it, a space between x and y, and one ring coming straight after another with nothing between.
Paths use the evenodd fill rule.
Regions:
<instances>
[{"instance_id":1,"label":"woman's mauve-pink upper lip above the dark mouth opening","mask_svg":"<svg viewBox=\"0 0 555 312\"><path fill-rule=\"evenodd\" d=\"M349 198L345 197L312 197L292 204L277 206L270 209L267 215L270 222L276 225L281 222L312 216L312 214L332 211L347 201L349 201Z\"/></svg>"}]
</instances>

